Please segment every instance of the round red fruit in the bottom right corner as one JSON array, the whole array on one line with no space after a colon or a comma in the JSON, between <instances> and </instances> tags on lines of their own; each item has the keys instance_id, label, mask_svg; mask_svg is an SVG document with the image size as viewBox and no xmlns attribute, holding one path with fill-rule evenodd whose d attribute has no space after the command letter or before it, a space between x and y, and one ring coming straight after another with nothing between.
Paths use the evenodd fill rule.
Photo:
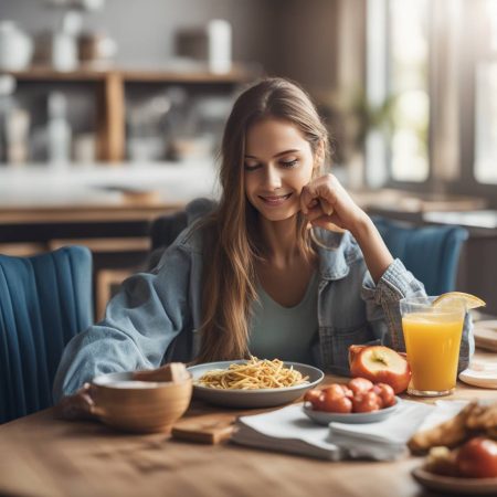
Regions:
<instances>
[{"instance_id":1,"label":"round red fruit in the bottom right corner","mask_svg":"<svg viewBox=\"0 0 497 497\"><path fill-rule=\"evenodd\" d=\"M461 476L497 477L497 442L483 436L469 440L458 450L456 466Z\"/></svg>"}]
</instances>

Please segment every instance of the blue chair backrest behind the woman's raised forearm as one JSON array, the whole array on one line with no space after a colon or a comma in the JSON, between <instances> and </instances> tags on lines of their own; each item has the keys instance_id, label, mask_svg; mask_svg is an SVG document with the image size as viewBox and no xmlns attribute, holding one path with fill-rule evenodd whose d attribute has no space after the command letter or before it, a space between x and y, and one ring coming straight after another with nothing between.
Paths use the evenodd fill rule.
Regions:
<instances>
[{"instance_id":1,"label":"blue chair backrest behind the woman's raised forearm","mask_svg":"<svg viewBox=\"0 0 497 497\"><path fill-rule=\"evenodd\" d=\"M373 218L373 222L392 255L424 283L429 295L454 290L467 230L444 225L413 228L384 218Z\"/></svg>"}]
</instances>

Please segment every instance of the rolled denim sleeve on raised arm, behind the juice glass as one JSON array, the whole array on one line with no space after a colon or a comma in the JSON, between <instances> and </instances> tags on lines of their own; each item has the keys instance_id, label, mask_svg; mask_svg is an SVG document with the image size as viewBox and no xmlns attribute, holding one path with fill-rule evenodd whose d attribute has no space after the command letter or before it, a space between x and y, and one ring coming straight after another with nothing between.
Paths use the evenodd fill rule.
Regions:
<instances>
[{"instance_id":1,"label":"rolled denim sleeve on raised arm, behind the juice glass","mask_svg":"<svg viewBox=\"0 0 497 497\"><path fill-rule=\"evenodd\" d=\"M377 285L366 273L361 296L366 302L368 321L376 338L399 351L405 351L399 300L426 295L424 286L400 260L394 260ZM474 338L469 315L466 316L461 342L458 370L467 368L474 352Z\"/></svg>"}]
</instances>

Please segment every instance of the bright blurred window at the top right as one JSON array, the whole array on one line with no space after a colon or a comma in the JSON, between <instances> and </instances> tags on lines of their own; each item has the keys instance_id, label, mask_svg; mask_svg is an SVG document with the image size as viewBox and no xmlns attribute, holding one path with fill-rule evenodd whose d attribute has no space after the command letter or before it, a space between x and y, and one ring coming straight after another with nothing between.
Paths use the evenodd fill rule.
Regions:
<instances>
[{"instance_id":1,"label":"bright blurred window at the top right","mask_svg":"<svg viewBox=\"0 0 497 497\"><path fill-rule=\"evenodd\" d=\"M486 195L495 204L497 0L367 6L368 97L391 101L382 160L378 133L367 140L368 183L382 177L382 184Z\"/></svg>"}]
</instances>

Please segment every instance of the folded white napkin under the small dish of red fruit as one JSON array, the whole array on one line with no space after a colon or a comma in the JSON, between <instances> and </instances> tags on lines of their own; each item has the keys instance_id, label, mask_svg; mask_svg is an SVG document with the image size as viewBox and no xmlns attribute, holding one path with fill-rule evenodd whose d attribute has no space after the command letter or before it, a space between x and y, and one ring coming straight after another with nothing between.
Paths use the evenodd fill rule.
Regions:
<instances>
[{"instance_id":1,"label":"folded white napkin under the small dish of red fruit","mask_svg":"<svg viewBox=\"0 0 497 497\"><path fill-rule=\"evenodd\" d=\"M390 461L406 454L406 442L420 429L425 430L454 416L465 401L437 401L436 405L404 400L396 411L376 423L315 424L303 404L242 416L232 441L337 461L347 457Z\"/></svg>"}]
</instances>

